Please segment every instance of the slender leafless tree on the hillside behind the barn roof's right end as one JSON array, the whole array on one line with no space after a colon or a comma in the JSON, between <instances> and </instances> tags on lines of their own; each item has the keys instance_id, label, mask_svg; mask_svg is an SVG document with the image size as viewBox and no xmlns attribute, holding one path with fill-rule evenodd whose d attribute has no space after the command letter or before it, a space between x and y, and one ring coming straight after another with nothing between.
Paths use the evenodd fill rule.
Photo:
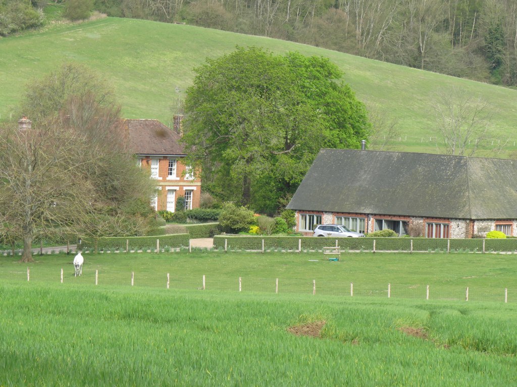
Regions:
<instances>
[{"instance_id":1,"label":"slender leafless tree on the hillside behind the barn roof's right end","mask_svg":"<svg viewBox=\"0 0 517 387\"><path fill-rule=\"evenodd\" d=\"M473 156L486 140L491 112L481 97L457 88L441 89L433 105L445 153Z\"/></svg>"}]
</instances>

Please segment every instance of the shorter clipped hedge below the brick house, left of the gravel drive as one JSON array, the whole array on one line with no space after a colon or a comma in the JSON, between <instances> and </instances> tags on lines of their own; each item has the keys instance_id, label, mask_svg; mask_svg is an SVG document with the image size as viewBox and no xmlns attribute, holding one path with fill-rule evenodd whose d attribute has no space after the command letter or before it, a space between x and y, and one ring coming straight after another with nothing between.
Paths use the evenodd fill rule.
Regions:
<instances>
[{"instance_id":1,"label":"shorter clipped hedge below the brick house, left of the gravel drive","mask_svg":"<svg viewBox=\"0 0 517 387\"><path fill-rule=\"evenodd\" d=\"M189 245L189 234L171 234L163 236L132 236L124 237L117 236L111 238L100 238L97 241L97 249L118 249L121 251L126 250L126 240L129 239L129 250L141 250L141 249L156 249L156 239L160 239L160 248L164 247L183 247ZM81 248L82 249L93 249L95 247L95 241L93 239L83 239Z\"/></svg>"}]
</instances>

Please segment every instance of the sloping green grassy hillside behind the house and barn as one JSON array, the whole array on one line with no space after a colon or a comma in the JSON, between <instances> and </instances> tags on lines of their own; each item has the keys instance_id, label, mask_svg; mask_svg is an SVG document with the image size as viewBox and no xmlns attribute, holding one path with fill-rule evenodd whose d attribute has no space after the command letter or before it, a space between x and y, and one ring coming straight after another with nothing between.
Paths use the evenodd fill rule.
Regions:
<instances>
[{"instance_id":1,"label":"sloping green grassy hillside behind the house and barn","mask_svg":"<svg viewBox=\"0 0 517 387\"><path fill-rule=\"evenodd\" d=\"M236 45L329 57L345 72L346 82L360 100L399 120L401 150L438 151L432 93L451 86L483 96L493 112L491 136L495 143L511 138L506 152L517 149L513 143L517 140L513 135L515 90L281 40L117 18L59 25L0 40L0 119L17 119L12 114L27 80L47 74L63 61L78 61L113 84L125 117L157 118L170 124L171 108L191 84L192 69L207 57L233 51Z\"/></svg>"}]
</instances>

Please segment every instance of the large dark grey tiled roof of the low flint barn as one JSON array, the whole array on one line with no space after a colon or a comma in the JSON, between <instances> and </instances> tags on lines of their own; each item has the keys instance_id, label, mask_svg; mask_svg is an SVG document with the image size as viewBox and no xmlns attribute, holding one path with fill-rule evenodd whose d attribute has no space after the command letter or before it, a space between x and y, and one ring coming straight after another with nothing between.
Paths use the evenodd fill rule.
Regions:
<instances>
[{"instance_id":1,"label":"large dark grey tiled roof of the low flint barn","mask_svg":"<svg viewBox=\"0 0 517 387\"><path fill-rule=\"evenodd\" d=\"M322 149L287 208L517 219L517 160Z\"/></svg>"}]
</instances>

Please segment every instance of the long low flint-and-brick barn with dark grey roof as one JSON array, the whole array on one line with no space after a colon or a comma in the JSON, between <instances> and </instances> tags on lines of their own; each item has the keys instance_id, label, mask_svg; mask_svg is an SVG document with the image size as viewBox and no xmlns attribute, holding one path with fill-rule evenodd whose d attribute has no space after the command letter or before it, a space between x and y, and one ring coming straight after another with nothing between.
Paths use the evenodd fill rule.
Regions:
<instances>
[{"instance_id":1,"label":"long low flint-and-brick barn with dark grey roof","mask_svg":"<svg viewBox=\"0 0 517 387\"><path fill-rule=\"evenodd\" d=\"M305 235L340 223L428 238L517 236L517 160L322 149L287 208Z\"/></svg>"}]
</instances>

